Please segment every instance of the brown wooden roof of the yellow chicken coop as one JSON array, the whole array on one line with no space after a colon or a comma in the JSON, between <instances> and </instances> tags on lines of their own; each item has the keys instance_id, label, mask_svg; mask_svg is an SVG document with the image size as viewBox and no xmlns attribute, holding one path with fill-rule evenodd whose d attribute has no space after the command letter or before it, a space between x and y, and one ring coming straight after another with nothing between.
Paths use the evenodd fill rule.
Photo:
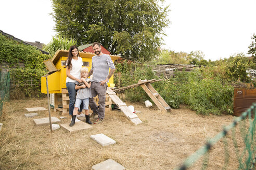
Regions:
<instances>
[{"instance_id":1,"label":"brown wooden roof of the yellow chicken coop","mask_svg":"<svg viewBox=\"0 0 256 170\"><path fill-rule=\"evenodd\" d=\"M56 51L56 53L54 54L53 59L52 59L53 63L56 64L61 56L68 56L68 54L69 54L68 50ZM91 53L91 52L79 52L79 55L81 56L81 58L93 58L93 56L96 54ZM116 61L117 59L120 58L120 56L118 56L118 55L109 55L109 56L111 57L111 59L113 61Z\"/></svg>"}]
</instances>

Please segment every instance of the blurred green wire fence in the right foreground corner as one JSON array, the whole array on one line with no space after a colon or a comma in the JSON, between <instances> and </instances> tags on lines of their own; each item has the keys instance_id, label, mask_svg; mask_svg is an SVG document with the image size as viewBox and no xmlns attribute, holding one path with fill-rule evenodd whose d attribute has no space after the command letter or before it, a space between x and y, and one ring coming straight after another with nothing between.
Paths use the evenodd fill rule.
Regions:
<instances>
[{"instance_id":1,"label":"blurred green wire fence in the right foreground corner","mask_svg":"<svg viewBox=\"0 0 256 170\"><path fill-rule=\"evenodd\" d=\"M255 123L256 123L256 103L253 103L252 106L247 109L245 112L241 114L240 117L236 118L233 123L225 126L223 130L215 135L213 138L208 140L208 142L199 148L196 152L191 154L185 161L182 163L181 166L176 167L175 169L185 170L192 166L195 162L197 162L202 156L204 156L202 168L206 169L209 160L210 150L212 149L213 145L217 143L217 141L223 138L224 143L224 164L222 169L227 169L229 158L231 157L228 153L228 142L225 139L225 136L229 131L232 130L232 140L235 147L236 159L238 162L237 169L255 169L255 162L256 162L256 154L255 154ZM247 129L245 123L248 118L249 127ZM235 137L235 127L239 124L239 130L244 141L245 148L241 151L238 146L236 137ZM240 150L239 150L240 149ZM234 157L232 157L235 159Z\"/></svg>"}]
</instances>

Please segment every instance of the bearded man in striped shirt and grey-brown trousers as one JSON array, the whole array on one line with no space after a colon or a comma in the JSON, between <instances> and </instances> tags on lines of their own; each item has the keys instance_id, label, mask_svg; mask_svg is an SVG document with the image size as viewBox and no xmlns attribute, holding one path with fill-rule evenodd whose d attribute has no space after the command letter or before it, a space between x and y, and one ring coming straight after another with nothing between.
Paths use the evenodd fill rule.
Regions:
<instances>
[{"instance_id":1,"label":"bearded man in striped shirt and grey-brown trousers","mask_svg":"<svg viewBox=\"0 0 256 170\"><path fill-rule=\"evenodd\" d=\"M93 110L92 117L98 115L98 119L94 122L94 124L98 124L103 121L105 117L107 83L113 75L114 70L116 70L116 67L114 67L110 56L101 52L99 43L93 43L93 51L96 55L92 58L92 68L88 74L88 77L93 75L91 84L92 98L89 98L89 106ZM99 108L93 99L96 95L98 95L99 98Z\"/></svg>"}]
</instances>

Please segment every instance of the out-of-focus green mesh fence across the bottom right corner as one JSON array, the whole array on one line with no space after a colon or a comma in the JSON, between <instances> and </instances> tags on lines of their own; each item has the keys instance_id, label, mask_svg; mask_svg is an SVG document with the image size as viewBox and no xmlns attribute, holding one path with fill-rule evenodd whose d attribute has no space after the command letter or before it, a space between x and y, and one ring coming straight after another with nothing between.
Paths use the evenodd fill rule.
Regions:
<instances>
[{"instance_id":1,"label":"out-of-focus green mesh fence across the bottom right corner","mask_svg":"<svg viewBox=\"0 0 256 170\"><path fill-rule=\"evenodd\" d=\"M256 125L256 103L254 103L247 111L243 112L242 115L236 118L233 123L223 127L223 130L209 139L208 142L199 148L196 152L191 154L181 166L175 169L184 170L195 166L199 166L198 163L201 161L202 165L200 169L207 169L208 166L214 162L211 159L211 153L214 149L214 144L222 143L223 160L221 169L229 169L230 160L235 160L237 164L236 169L255 169L256 161L256 140L255 140L255 125ZM229 136L227 136L229 134ZM238 138L241 140L238 141ZM235 153L235 154L231 154ZM199 163L200 164L200 163ZM198 169L199 167L197 167Z\"/></svg>"}]
</instances>

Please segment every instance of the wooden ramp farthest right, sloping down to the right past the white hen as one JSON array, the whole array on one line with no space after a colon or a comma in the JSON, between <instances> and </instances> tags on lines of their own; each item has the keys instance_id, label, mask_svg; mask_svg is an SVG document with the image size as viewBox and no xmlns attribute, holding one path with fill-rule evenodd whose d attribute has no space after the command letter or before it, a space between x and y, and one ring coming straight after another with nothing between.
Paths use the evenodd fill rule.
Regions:
<instances>
[{"instance_id":1,"label":"wooden ramp farthest right, sloping down to the right past the white hen","mask_svg":"<svg viewBox=\"0 0 256 170\"><path fill-rule=\"evenodd\" d=\"M172 111L171 107L163 100L163 98L158 94L158 92L152 87L150 82L140 80L138 83L141 83L140 86L145 90L149 95L151 100L157 105L161 111Z\"/></svg>"}]
</instances>

